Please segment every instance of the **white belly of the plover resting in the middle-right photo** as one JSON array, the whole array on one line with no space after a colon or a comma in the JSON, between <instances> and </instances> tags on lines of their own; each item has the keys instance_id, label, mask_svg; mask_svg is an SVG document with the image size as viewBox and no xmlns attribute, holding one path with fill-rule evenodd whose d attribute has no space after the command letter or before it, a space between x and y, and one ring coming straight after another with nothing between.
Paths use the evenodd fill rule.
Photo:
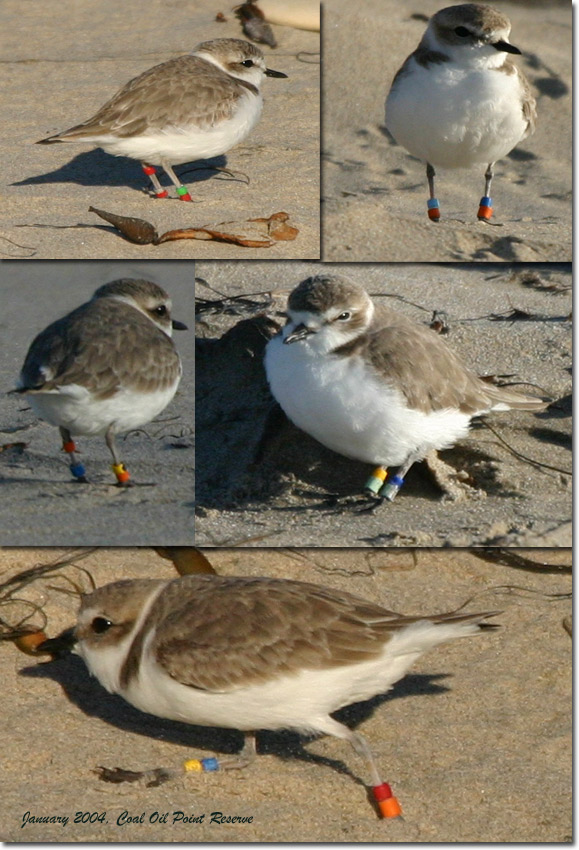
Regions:
<instances>
[{"instance_id":1,"label":"white belly of the plover resting in the middle-right photo","mask_svg":"<svg viewBox=\"0 0 579 850\"><path fill-rule=\"evenodd\" d=\"M468 415L411 410L403 394L379 380L360 357L321 356L307 340L286 345L274 337L265 368L288 418L346 457L400 466L410 454L448 448L468 431Z\"/></svg>"}]
</instances>

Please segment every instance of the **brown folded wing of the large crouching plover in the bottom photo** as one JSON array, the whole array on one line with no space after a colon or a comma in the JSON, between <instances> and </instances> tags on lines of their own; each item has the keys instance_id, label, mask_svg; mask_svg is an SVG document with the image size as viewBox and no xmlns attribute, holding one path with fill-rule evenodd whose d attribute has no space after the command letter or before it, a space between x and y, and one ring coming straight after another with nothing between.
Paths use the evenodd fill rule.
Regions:
<instances>
[{"instance_id":1,"label":"brown folded wing of the large crouching plover in the bottom photo","mask_svg":"<svg viewBox=\"0 0 579 850\"><path fill-rule=\"evenodd\" d=\"M180 604L184 584L194 597ZM348 593L266 578L185 576L163 602L172 610L157 630L157 659L174 679L212 691L375 658L412 622Z\"/></svg>"}]
</instances>

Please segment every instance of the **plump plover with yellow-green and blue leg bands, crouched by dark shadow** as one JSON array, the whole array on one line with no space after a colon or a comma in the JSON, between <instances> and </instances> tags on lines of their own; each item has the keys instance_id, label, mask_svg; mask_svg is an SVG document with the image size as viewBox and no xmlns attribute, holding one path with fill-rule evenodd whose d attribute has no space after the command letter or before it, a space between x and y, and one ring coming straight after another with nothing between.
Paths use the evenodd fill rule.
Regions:
<instances>
[{"instance_id":1,"label":"plump plover with yellow-green and blue leg bands, crouched by dark shadow","mask_svg":"<svg viewBox=\"0 0 579 850\"><path fill-rule=\"evenodd\" d=\"M492 410L543 410L538 398L481 380L424 325L375 307L358 284L304 280L267 345L274 397L292 422L340 454L378 469L366 485L392 500L413 463L466 436ZM400 467L386 483L386 467Z\"/></svg>"}]
</instances>

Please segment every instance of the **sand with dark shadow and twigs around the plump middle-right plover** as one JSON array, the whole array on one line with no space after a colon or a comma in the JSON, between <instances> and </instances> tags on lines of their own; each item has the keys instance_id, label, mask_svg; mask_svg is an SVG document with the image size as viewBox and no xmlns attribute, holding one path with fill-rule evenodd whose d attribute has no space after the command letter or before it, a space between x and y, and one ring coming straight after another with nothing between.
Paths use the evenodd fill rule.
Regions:
<instances>
[{"instance_id":1,"label":"sand with dark shadow and twigs around the plump middle-right plover","mask_svg":"<svg viewBox=\"0 0 579 850\"><path fill-rule=\"evenodd\" d=\"M213 289L198 282L196 299L257 293L259 305L264 293L277 290L283 309L283 291L321 270L313 263L242 269L201 263L196 273ZM196 348L197 544L571 545L570 267L324 264L323 270L349 276L417 322L441 312L448 344L478 374L512 376L507 380L523 382L523 392L558 403L539 414L493 414L487 421L496 434L475 425L468 439L441 454L478 491L467 499L442 500L420 464L395 502L360 513L352 502L371 467L325 449L289 423L254 462L273 405L263 350L280 315L274 309L247 318L241 305L237 315L232 305L226 313L205 312Z\"/></svg>"}]
</instances>

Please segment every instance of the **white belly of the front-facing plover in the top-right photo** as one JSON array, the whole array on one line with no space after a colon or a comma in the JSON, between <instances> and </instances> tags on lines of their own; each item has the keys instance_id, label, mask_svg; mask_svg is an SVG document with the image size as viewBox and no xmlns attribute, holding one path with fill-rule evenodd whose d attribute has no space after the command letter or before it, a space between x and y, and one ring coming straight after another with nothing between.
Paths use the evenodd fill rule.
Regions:
<instances>
[{"instance_id":1,"label":"white belly of the front-facing plover in the top-right photo","mask_svg":"<svg viewBox=\"0 0 579 850\"><path fill-rule=\"evenodd\" d=\"M517 74L423 68L414 60L386 101L398 144L432 165L463 168L502 159L527 132Z\"/></svg>"}]
</instances>

